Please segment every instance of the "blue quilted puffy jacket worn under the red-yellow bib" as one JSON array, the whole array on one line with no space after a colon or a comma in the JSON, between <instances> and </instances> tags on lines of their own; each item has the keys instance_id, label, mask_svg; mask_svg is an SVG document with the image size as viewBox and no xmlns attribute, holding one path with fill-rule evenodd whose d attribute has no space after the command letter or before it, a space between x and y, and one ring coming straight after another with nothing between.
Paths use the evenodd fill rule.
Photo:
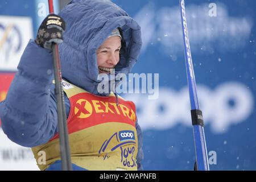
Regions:
<instances>
[{"instance_id":1,"label":"blue quilted puffy jacket worn under the red-yellow bib","mask_svg":"<svg viewBox=\"0 0 256 182\"><path fill-rule=\"evenodd\" d=\"M66 22L64 42L59 44L63 77L93 94L97 92L96 49L120 27L126 50L115 70L129 73L141 49L141 28L129 15L110 1L74 0L59 14ZM18 65L6 100L0 102L2 129L13 142L25 147L47 143L57 133L52 52L30 40ZM65 96L67 115L70 103ZM142 131L138 133L138 169L142 169Z\"/></svg>"}]
</instances>

